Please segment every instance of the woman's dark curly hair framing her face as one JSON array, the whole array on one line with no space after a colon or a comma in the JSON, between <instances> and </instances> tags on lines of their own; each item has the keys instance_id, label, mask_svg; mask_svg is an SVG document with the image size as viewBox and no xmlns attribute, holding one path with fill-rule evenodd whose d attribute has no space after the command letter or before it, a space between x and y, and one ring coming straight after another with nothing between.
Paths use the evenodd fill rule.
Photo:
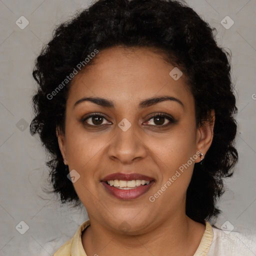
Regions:
<instances>
[{"instance_id":1,"label":"woman's dark curly hair framing her face","mask_svg":"<svg viewBox=\"0 0 256 256\"><path fill-rule=\"evenodd\" d=\"M46 162L53 190L61 203L81 204L66 177L56 127L64 132L65 104L70 82L47 95L93 50L112 46L150 47L162 51L169 63L185 74L195 100L196 125L215 112L214 135L202 164L194 165L186 193L186 215L195 221L216 217L223 178L233 174L238 159L234 148L237 112L230 78L230 53L217 46L214 31L184 2L175 0L97 0L72 19L61 23L36 58L33 77L34 118L30 133L38 133L50 153ZM90 64L93 61L90 61ZM84 66L86 68L86 66Z\"/></svg>"}]
</instances>

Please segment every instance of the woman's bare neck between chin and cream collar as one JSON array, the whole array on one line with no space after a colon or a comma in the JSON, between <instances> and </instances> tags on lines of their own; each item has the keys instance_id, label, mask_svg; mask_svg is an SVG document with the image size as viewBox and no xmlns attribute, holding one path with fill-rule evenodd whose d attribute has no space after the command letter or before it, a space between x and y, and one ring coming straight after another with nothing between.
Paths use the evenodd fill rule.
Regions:
<instances>
[{"instance_id":1,"label":"woman's bare neck between chin and cream collar","mask_svg":"<svg viewBox=\"0 0 256 256\"><path fill-rule=\"evenodd\" d=\"M127 254L193 255L205 226L184 215L176 215L159 223L151 223L148 232L122 234L114 232L90 217L90 226L82 233L82 245L87 255Z\"/></svg>"}]
</instances>

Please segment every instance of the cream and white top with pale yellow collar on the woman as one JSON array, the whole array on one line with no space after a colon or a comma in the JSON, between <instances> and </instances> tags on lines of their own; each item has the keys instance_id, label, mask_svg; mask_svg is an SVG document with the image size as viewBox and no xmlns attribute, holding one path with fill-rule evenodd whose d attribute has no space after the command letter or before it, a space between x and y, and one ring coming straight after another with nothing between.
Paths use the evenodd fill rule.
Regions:
<instances>
[{"instance_id":1,"label":"cream and white top with pale yellow collar on the woman","mask_svg":"<svg viewBox=\"0 0 256 256\"><path fill-rule=\"evenodd\" d=\"M82 231L89 226L90 220L83 222L74 236L67 240L53 256L87 256L81 241ZM205 220L205 230L199 246L193 256L255 256L256 246L254 241L246 238L238 232L227 232L212 227Z\"/></svg>"}]
</instances>

